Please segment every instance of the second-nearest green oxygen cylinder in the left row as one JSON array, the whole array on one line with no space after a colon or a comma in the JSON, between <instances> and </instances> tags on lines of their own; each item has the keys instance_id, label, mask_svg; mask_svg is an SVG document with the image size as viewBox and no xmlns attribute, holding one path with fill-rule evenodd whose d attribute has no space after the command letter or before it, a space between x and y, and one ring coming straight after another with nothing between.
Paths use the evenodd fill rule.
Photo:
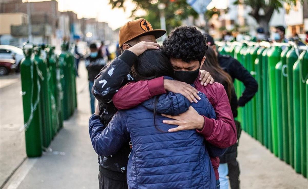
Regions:
<instances>
[{"instance_id":1,"label":"second-nearest green oxygen cylinder in the left row","mask_svg":"<svg viewBox=\"0 0 308 189\"><path fill-rule=\"evenodd\" d=\"M40 91L40 106L42 111L42 128L43 128L43 147L47 148L52 138L52 120L51 120L51 97L49 90L49 69L47 62L41 57L41 48L35 49L34 62L37 64L38 72L41 74L39 82L41 85Z\"/></svg>"}]
</instances>

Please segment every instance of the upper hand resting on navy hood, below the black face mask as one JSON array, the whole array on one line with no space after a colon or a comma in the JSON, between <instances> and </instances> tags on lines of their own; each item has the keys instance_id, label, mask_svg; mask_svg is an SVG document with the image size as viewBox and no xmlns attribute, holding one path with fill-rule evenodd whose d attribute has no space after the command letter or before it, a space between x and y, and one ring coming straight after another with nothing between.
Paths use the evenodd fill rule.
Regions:
<instances>
[{"instance_id":1,"label":"upper hand resting on navy hood, below the black face mask","mask_svg":"<svg viewBox=\"0 0 308 189\"><path fill-rule=\"evenodd\" d=\"M191 103L197 103L197 99L200 100L199 91L195 87L176 80L164 79L164 88L173 93L180 93L186 97Z\"/></svg>"}]
</instances>

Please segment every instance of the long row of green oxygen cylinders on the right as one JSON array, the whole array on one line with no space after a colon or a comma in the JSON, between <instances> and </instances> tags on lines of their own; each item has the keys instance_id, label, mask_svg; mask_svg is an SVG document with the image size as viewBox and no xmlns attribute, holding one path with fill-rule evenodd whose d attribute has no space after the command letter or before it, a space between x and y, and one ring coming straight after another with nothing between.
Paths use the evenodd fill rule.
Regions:
<instances>
[{"instance_id":1,"label":"long row of green oxygen cylinders on the right","mask_svg":"<svg viewBox=\"0 0 308 189\"><path fill-rule=\"evenodd\" d=\"M232 42L221 54L237 59L258 82L255 97L238 110L243 130L307 178L308 46ZM236 80L241 96L245 86Z\"/></svg>"}]
</instances>

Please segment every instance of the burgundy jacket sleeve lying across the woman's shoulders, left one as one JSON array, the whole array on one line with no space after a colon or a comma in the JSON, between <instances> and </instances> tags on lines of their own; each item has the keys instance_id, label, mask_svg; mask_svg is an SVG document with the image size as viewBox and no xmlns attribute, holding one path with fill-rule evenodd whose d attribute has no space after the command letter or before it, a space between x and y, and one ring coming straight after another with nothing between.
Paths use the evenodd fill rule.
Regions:
<instances>
[{"instance_id":1,"label":"burgundy jacket sleeve lying across the woman's shoulders, left one","mask_svg":"<svg viewBox=\"0 0 308 189\"><path fill-rule=\"evenodd\" d=\"M166 93L164 77L159 77L126 84L113 95L112 101L118 110L125 110L135 107L153 96L164 93Z\"/></svg>"}]
</instances>

